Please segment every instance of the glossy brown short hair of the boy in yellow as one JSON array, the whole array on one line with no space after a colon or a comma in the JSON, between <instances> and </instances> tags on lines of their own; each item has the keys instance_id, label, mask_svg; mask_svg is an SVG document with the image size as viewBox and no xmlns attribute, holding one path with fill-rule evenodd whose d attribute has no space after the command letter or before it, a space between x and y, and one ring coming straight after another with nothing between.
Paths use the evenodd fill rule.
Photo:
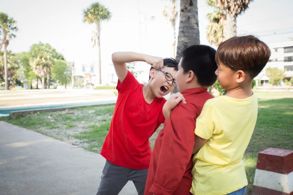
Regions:
<instances>
[{"instance_id":1,"label":"glossy brown short hair of the boy in yellow","mask_svg":"<svg viewBox=\"0 0 293 195\"><path fill-rule=\"evenodd\" d=\"M270 48L253 35L232 37L219 45L216 61L233 71L243 70L253 79L270 58Z\"/></svg>"}]
</instances>

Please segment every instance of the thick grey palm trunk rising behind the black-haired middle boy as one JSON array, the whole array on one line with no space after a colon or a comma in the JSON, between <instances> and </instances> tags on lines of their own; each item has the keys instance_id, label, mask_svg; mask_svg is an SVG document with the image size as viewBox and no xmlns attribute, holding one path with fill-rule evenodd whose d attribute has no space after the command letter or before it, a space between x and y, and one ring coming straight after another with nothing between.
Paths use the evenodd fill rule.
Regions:
<instances>
[{"instance_id":1,"label":"thick grey palm trunk rising behind the black-haired middle boy","mask_svg":"<svg viewBox=\"0 0 293 195\"><path fill-rule=\"evenodd\" d=\"M181 0L176 60L180 61L183 49L196 44L200 44L197 0ZM171 93L177 92L178 89L174 88Z\"/></svg>"}]
</instances>

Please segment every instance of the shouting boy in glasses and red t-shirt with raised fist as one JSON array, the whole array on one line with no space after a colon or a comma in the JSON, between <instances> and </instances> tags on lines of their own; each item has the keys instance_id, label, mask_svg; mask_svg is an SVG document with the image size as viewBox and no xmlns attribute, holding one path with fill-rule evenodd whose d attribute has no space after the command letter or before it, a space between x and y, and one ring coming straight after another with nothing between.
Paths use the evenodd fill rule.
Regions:
<instances>
[{"instance_id":1,"label":"shouting boy in glasses and red t-shirt with raised fist","mask_svg":"<svg viewBox=\"0 0 293 195\"><path fill-rule=\"evenodd\" d=\"M144 193L151 158L149 138L165 121L164 95L176 87L178 62L134 52L116 52L112 61L118 76L118 98L101 155L106 158L97 195L118 194L133 181L139 195ZM144 61L152 66L149 82L140 84L126 64Z\"/></svg>"}]
</instances>

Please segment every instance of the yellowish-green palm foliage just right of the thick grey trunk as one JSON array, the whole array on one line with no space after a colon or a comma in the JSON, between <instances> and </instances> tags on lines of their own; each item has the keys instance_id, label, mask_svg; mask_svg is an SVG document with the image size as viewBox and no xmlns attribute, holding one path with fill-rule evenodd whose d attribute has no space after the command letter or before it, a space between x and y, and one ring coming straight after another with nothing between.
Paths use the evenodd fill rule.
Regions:
<instances>
[{"instance_id":1,"label":"yellowish-green palm foliage just right of the thick grey trunk","mask_svg":"<svg viewBox=\"0 0 293 195\"><path fill-rule=\"evenodd\" d=\"M226 25L226 14L221 8L218 8L213 0L207 0L207 4L214 8L212 13L207 14L209 25L207 26L207 40L210 44L217 47L224 42L224 27Z\"/></svg>"}]
</instances>

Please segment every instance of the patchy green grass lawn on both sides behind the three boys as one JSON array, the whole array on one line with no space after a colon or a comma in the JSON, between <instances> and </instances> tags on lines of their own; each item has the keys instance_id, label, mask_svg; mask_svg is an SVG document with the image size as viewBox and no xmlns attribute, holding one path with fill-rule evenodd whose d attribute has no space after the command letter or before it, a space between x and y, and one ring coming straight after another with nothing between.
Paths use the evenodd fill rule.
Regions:
<instances>
[{"instance_id":1,"label":"patchy green grass lawn on both sides behind the three boys","mask_svg":"<svg viewBox=\"0 0 293 195\"><path fill-rule=\"evenodd\" d=\"M258 152L267 148L293 150L293 93L256 92L258 119L243 160L251 194ZM83 147L100 152L108 133L114 106L86 107L69 111L46 112L26 117L1 117L0 120L64 140L81 140ZM161 130L162 125L159 130ZM150 138L151 147L159 130Z\"/></svg>"}]
</instances>

